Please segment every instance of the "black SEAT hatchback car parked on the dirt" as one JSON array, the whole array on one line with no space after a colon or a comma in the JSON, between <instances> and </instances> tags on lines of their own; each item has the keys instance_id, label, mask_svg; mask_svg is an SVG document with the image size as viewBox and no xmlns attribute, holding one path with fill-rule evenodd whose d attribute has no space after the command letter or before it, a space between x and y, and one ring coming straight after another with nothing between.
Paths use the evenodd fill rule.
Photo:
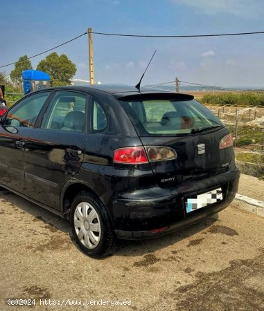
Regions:
<instances>
[{"instance_id":1,"label":"black SEAT hatchback car parked on the dirt","mask_svg":"<svg viewBox=\"0 0 264 311\"><path fill-rule=\"evenodd\" d=\"M1 117L0 185L67 218L89 256L173 232L234 199L229 130L191 95L65 86Z\"/></svg>"}]
</instances>

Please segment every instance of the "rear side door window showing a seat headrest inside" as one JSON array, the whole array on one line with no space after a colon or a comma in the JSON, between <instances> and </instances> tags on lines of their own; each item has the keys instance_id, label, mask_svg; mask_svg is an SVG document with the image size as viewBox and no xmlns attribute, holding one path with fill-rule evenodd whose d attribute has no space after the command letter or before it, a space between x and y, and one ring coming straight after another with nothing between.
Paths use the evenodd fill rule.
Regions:
<instances>
[{"instance_id":1,"label":"rear side door window showing a seat headrest inside","mask_svg":"<svg viewBox=\"0 0 264 311\"><path fill-rule=\"evenodd\" d=\"M81 132L85 125L86 102L86 95L56 92L42 121L42 129Z\"/></svg>"}]
</instances>

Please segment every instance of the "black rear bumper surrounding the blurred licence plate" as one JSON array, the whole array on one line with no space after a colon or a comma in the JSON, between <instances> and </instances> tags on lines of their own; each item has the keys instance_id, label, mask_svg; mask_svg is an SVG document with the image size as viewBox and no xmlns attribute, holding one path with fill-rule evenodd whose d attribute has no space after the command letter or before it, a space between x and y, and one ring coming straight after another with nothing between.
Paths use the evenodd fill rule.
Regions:
<instances>
[{"instance_id":1,"label":"black rear bumper surrounding the blurred licence plate","mask_svg":"<svg viewBox=\"0 0 264 311\"><path fill-rule=\"evenodd\" d=\"M159 195L153 196L155 191L152 189L152 198L146 197L146 190L143 192L145 198L142 198L140 191L137 191L137 195L127 194L127 198L123 194L113 203L114 232L118 238L137 240L168 234L199 222L225 209L234 200L239 176L239 171L229 171L196 182L186 182L170 191L164 189L164 196L160 196L160 188L157 191ZM186 197L218 187L224 189L224 200L186 213Z\"/></svg>"}]
</instances>

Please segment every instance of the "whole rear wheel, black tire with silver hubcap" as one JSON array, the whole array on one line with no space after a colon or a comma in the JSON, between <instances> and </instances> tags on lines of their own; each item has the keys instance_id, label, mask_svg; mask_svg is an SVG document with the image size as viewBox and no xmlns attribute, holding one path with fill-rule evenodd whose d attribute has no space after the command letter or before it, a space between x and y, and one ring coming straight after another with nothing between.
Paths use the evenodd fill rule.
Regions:
<instances>
[{"instance_id":1,"label":"whole rear wheel, black tire with silver hubcap","mask_svg":"<svg viewBox=\"0 0 264 311\"><path fill-rule=\"evenodd\" d=\"M109 216L93 194L82 191L74 198L70 223L76 243L88 256L101 258L114 251L116 238Z\"/></svg>"}]
</instances>

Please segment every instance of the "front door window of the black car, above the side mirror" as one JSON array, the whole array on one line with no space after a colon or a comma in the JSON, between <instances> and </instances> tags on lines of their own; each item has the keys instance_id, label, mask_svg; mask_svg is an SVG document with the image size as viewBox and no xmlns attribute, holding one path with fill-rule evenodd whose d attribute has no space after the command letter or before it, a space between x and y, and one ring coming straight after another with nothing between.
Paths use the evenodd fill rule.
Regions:
<instances>
[{"instance_id":1,"label":"front door window of the black car, above the side mirror","mask_svg":"<svg viewBox=\"0 0 264 311\"><path fill-rule=\"evenodd\" d=\"M10 109L3 125L33 127L37 115L39 115L50 93L41 92L21 100L19 104Z\"/></svg>"}]
</instances>

